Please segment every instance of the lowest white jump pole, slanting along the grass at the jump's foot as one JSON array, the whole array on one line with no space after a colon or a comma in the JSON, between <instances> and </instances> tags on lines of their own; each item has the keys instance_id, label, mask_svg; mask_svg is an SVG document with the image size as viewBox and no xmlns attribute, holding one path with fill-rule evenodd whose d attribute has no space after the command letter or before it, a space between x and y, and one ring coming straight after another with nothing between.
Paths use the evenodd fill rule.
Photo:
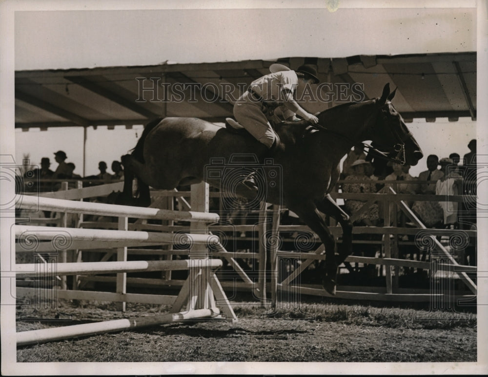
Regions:
<instances>
[{"instance_id":1,"label":"lowest white jump pole, slanting along the grass at the jump's foot","mask_svg":"<svg viewBox=\"0 0 488 377\"><path fill-rule=\"evenodd\" d=\"M211 318L216 317L219 314L220 310L218 308L197 309L188 312L167 313L123 320L109 320L95 323L83 323L72 326L46 328L41 330L22 331L17 333L17 345L23 346L46 341L71 339L73 337L121 331L136 327L154 326L183 320Z\"/></svg>"}]
</instances>

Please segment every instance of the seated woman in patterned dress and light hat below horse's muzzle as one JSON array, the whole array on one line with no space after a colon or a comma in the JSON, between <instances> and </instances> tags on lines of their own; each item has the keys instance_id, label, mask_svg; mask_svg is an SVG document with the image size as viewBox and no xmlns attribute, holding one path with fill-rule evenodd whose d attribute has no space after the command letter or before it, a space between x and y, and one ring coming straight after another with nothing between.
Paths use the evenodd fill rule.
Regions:
<instances>
[{"instance_id":1,"label":"seated woman in patterned dress and light hat below horse's muzzle","mask_svg":"<svg viewBox=\"0 0 488 377\"><path fill-rule=\"evenodd\" d=\"M353 192L353 193L374 193L376 192L376 187L374 182L366 175L366 169L368 162L364 159L359 159L354 161L351 164L351 168L353 173L349 174L346 177L346 181L351 181L351 183L344 183L343 184L343 192ZM363 182L354 182L354 181L363 181ZM365 183L364 181L371 181L371 183ZM349 214L354 214L357 212L367 200L351 200L347 199L345 201L345 208L346 212ZM376 226L379 219L379 209L377 204L373 204L369 209L360 215L357 219L358 222L363 222L366 226Z\"/></svg>"}]
</instances>

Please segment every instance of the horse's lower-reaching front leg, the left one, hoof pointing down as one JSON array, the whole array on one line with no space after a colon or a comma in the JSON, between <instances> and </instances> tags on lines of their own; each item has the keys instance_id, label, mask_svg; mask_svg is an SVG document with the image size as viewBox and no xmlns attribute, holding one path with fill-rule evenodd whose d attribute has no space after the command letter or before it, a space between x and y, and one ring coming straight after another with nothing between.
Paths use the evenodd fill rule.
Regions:
<instances>
[{"instance_id":1,"label":"horse's lower-reaching front leg, the left one, hoof pointing down","mask_svg":"<svg viewBox=\"0 0 488 377\"><path fill-rule=\"evenodd\" d=\"M325 274L322 279L322 285L331 295L336 292L337 263L334 254L335 240L330 233L327 225L319 214L316 205L313 202L301 203L297 206L288 206L295 212L305 224L317 235L325 246Z\"/></svg>"}]
</instances>

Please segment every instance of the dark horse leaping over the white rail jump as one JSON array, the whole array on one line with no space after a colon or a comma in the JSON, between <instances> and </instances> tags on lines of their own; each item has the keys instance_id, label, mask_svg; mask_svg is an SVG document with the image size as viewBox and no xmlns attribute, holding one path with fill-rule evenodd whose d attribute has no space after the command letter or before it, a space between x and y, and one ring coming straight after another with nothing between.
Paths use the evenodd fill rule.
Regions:
<instances>
[{"instance_id":1,"label":"dark horse leaping over the white rail jump","mask_svg":"<svg viewBox=\"0 0 488 377\"><path fill-rule=\"evenodd\" d=\"M326 109L318 115L319 125L284 122L276 126L280 142L274 165L281 167L281 184L268 185L263 200L286 206L320 238L325 246L322 284L335 295L337 268L352 253L352 223L330 192L339 179L339 163L353 145L372 141L369 151L400 164L416 165L423 153L408 131L391 100L386 84L381 97L349 102ZM375 146L373 148L372 146ZM222 179L205 174L213 159L228 163L232 156L255 154L262 160L266 148L247 132L236 134L225 127L198 118L166 117L150 122L131 154L122 156L125 167L124 202L147 206L149 186L173 189L206 181L220 188ZM132 181L137 178L138 194L133 197ZM236 195L249 199L256 192L237 185ZM320 215L335 218L343 230L343 243L335 255L335 240Z\"/></svg>"}]
</instances>

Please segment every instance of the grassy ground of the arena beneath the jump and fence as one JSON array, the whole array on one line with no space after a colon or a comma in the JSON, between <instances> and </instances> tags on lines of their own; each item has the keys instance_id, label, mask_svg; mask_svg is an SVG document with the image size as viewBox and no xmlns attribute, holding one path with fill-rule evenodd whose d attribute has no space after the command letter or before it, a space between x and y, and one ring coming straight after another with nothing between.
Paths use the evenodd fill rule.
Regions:
<instances>
[{"instance_id":1,"label":"grassy ground of the arena beneath the jump and fence","mask_svg":"<svg viewBox=\"0 0 488 377\"><path fill-rule=\"evenodd\" d=\"M316 300L316 299L315 299ZM239 318L228 322L175 323L19 347L18 362L115 361L476 361L474 313L305 302L271 312L256 302L234 302ZM405 305L403 305L405 306ZM103 302L61 302L65 324L150 316L167 308L127 304L127 312ZM19 314L28 314L20 307ZM59 326L60 322L17 322L17 331Z\"/></svg>"}]
</instances>

